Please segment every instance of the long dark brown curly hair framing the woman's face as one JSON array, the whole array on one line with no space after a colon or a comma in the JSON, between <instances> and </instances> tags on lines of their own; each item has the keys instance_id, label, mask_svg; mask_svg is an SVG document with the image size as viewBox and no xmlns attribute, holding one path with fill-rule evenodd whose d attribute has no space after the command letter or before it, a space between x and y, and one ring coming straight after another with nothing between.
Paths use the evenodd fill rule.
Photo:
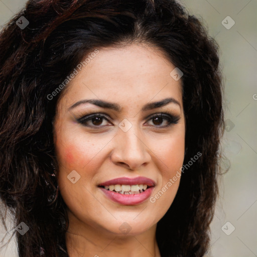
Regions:
<instances>
[{"instance_id":1,"label":"long dark brown curly hair framing the woman's face","mask_svg":"<svg viewBox=\"0 0 257 257\"><path fill-rule=\"evenodd\" d=\"M21 16L29 21L24 29L16 24ZM202 153L182 174L174 202L158 222L161 255L199 257L209 249L224 132L215 40L174 0L30 0L0 36L2 220L9 209L15 226L30 228L23 236L13 233L20 257L68 256L52 123L63 91L47 96L93 49L135 42L162 50L184 73L184 163Z\"/></svg>"}]
</instances>

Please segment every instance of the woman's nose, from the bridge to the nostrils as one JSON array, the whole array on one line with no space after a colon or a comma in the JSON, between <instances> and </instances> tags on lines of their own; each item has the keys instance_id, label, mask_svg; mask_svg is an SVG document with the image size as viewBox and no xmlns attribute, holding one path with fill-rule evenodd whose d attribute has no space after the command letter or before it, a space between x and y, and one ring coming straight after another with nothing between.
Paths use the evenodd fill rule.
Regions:
<instances>
[{"instance_id":1,"label":"woman's nose, from the bridge to the nostrils","mask_svg":"<svg viewBox=\"0 0 257 257\"><path fill-rule=\"evenodd\" d=\"M115 165L130 170L139 170L141 166L151 161L148 142L143 133L133 125L127 132L118 131L111 160Z\"/></svg>"}]
</instances>

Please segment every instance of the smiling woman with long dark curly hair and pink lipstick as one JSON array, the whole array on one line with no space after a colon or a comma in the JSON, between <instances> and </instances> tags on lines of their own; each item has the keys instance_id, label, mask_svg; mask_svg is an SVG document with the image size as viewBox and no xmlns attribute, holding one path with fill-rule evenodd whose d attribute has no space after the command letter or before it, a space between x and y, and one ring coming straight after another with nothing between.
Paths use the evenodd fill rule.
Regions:
<instances>
[{"instance_id":1,"label":"smiling woman with long dark curly hair and pink lipstick","mask_svg":"<svg viewBox=\"0 0 257 257\"><path fill-rule=\"evenodd\" d=\"M223 110L199 20L171 0L31 0L0 46L19 256L203 256Z\"/></svg>"}]
</instances>

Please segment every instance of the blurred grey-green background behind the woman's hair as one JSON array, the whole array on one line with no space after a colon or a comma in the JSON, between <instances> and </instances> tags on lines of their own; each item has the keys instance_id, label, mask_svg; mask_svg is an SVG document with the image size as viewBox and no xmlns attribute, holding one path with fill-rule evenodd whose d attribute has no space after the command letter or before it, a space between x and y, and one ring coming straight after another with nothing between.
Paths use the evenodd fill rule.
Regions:
<instances>
[{"instance_id":1,"label":"blurred grey-green background behind the woman's hair","mask_svg":"<svg viewBox=\"0 0 257 257\"><path fill-rule=\"evenodd\" d=\"M223 150L229 161L222 165L230 165L230 169L220 181L220 196L211 223L212 246L206 256L257 256L257 0L180 2L201 19L218 42L224 74ZM0 0L0 26L25 3ZM3 231L0 228L0 239ZM12 239L0 256L16 255Z\"/></svg>"}]
</instances>

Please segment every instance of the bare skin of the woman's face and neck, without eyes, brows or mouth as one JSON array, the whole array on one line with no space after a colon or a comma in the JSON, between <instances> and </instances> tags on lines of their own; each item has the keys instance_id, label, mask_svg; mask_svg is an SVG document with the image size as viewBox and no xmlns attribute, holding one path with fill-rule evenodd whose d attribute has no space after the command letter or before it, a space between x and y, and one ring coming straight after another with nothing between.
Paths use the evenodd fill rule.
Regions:
<instances>
[{"instance_id":1,"label":"bare skin of the woman's face and neck, without eyes, brows or mouth","mask_svg":"<svg viewBox=\"0 0 257 257\"><path fill-rule=\"evenodd\" d=\"M59 188L68 206L69 228L66 244L71 257L77 256L160 256L155 232L157 222L172 204L180 178L154 203L122 205L99 189L102 182L118 177L144 176L155 181L151 196L159 192L183 165L185 119L180 80L170 76L175 66L156 48L132 44L122 48L99 49L82 68L59 99L54 122ZM173 97L176 103L142 111L144 104ZM83 99L101 99L122 109L104 109ZM164 118L151 116L170 111L179 116L168 127ZM76 118L105 113L87 127ZM132 124L123 132L118 124L126 118ZM75 170L80 179L67 178ZM126 222L128 233L119 226ZM171 221L173 222L173 221ZM175 221L174 221L175 222Z\"/></svg>"}]
</instances>

